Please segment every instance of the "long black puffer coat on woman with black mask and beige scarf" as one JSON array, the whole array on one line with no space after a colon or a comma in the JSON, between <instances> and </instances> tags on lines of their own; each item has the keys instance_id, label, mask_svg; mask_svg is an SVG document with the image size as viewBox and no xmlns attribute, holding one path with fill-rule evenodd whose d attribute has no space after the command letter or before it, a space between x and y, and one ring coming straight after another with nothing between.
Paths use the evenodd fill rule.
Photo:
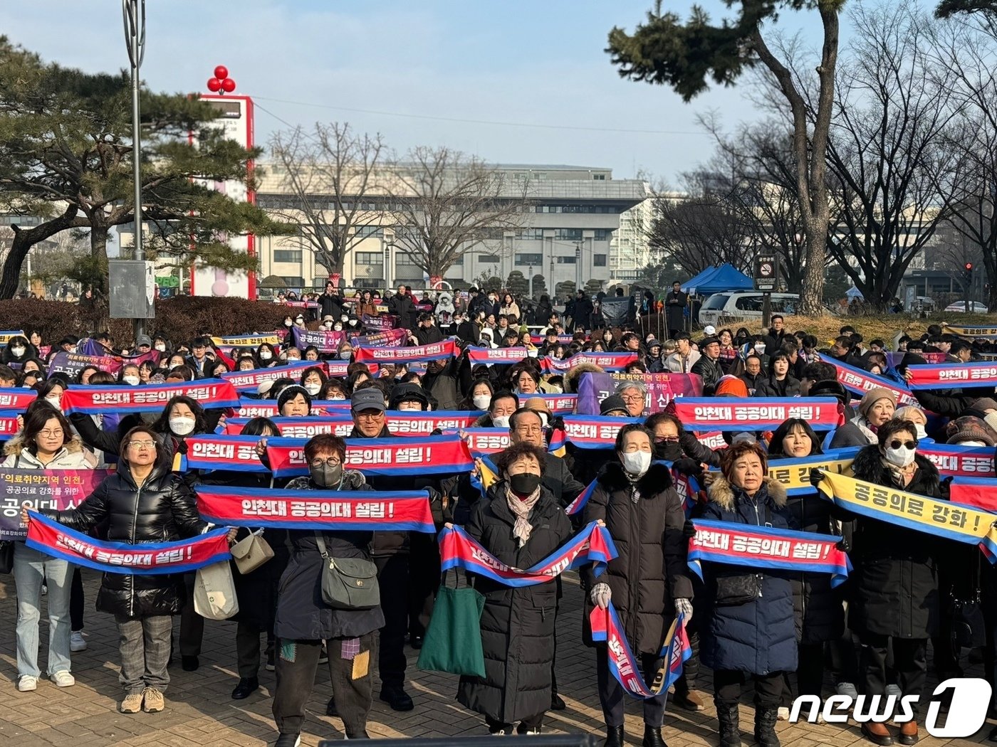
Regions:
<instances>
[{"instance_id":1,"label":"long black puffer coat on woman with black mask and beige scarf","mask_svg":"<svg viewBox=\"0 0 997 747\"><path fill-rule=\"evenodd\" d=\"M515 516L505 498L505 481L500 480L489 489L489 499L475 505L465 530L502 563L527 569L571 536L564 509L542 487L529 524L529 540L520 548L512 535ZM485 595L485 677L461 677L458 701L502 723L543 713L550 708L556 585L512 588L476 576L474 586Z\"/></svg>"}]
</instances>

